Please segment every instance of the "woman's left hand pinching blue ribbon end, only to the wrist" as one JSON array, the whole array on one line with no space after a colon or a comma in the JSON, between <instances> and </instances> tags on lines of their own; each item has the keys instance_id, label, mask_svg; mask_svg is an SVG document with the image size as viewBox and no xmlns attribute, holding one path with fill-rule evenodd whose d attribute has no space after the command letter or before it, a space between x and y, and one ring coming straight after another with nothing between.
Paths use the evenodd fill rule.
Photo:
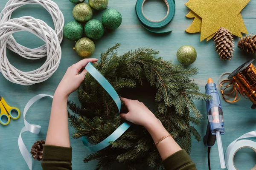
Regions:
<instances>
[{"instance_id":1,"label":"woman's left hand pinching blue ribbon end, only to the wrist","mask_svg":"<svg viewBox=\"0 0 256 170\"><path fill-rule=\"evenodd\" d=\"M58 85L55 94L58 93L67 98L71 93L76 91L76 89L79 88L84 80L84 74L87 73L85 69L81 72L81 74L79 74L79 71L83 69L88 64L88 62L97 61L98 59L83 59L70 66L67 69L67 72L62 78L60 84Z\"/></svg>"}]
</instances>

